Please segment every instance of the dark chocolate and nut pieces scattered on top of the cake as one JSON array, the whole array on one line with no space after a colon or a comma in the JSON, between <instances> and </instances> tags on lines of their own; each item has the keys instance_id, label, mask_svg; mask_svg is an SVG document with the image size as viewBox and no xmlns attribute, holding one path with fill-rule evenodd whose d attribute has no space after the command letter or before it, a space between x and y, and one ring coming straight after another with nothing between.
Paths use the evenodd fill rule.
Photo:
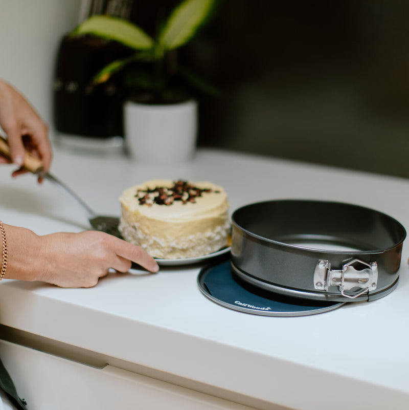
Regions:
<instances>
[{"instance_id":1,"label":"dark chocolate and nut pieces scattered on top of the cake","mask_svg":"<svg viewBox=\"0 0 409 410\"><path fill-rule=\"evenodd\" d=\"M212 192L210 188L198 188L188 181L176 181L170 187L156 186L155 188L138 189L135 198L138 198L140 205L152 206L172 205L174 201L181 201L183 204L188 202L196 203L196 198L201 197L202 193ZM220 191L214 191L220 193Z\"/></svg>"}]
</instances>

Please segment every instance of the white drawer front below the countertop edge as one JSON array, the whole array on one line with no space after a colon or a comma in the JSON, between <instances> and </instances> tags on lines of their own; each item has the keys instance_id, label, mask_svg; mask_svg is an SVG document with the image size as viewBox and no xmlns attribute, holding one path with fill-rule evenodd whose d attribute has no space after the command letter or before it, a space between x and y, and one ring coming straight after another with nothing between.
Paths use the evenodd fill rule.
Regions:
<instances>
[{"instance_id":1,"label":"white drawer front below the countertop edge","mask_svg":"<svg viewBox=\"0 0 409 410\"><path fill-rule=\"evenodd\" d=\"M110 365L96 369L3 340L0 357L30 410L251 410Z\"/></svg>"}]
</instances>

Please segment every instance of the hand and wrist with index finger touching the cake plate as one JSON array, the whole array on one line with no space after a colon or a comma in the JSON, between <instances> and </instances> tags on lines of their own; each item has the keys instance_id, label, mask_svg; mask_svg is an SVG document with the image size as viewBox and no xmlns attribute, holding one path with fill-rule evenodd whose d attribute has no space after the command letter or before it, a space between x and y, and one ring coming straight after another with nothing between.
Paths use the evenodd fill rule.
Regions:
<instances>
[{"instance_id":1,"label":"hand and wrist with index finger touching the cake plate","mask_svg":"<svg viewBox=\"0 0 409 410\"><path fill-rule=\"evenodd\" d=\"M88 288L109 268L127 272L131 261L151 272L158 266L140 247L99 231L38 236L5 225L8 241L6 278L42 280L64 288Z\"/></svg>"}]
</instances>

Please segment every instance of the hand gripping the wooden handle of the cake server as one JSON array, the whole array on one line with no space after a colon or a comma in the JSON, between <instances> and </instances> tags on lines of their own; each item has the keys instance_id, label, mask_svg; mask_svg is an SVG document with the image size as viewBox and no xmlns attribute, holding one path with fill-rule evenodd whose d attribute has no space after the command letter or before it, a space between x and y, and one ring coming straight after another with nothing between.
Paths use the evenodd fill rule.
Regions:
<instances>
[{"instance_id":1,"label":"hand gripping the wooden handle of the cake server","mask_svg":"<svg viewBox=\"0 0 409 410\"><path fill-rule=\"evenodd\" d=\"M0 80L0 125L7 134L12 162L20 167L13 172L14 177L26 172L22 168L26 150L40 158L44 171L48 172L52 161L48 126L28 101L3 80ZM0 163L9 162L0 154Z\"/></svg>"}]
</instances>

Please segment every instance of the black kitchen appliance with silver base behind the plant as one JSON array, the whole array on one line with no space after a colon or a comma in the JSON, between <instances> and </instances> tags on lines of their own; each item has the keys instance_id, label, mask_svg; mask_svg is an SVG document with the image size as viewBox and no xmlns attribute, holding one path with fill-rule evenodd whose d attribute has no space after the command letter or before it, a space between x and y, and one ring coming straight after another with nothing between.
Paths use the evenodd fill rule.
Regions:
<instances>
[{"instance_id":1,"label":"black kitchen appliance with silver base behind the plant","mask_svg":"<svg viewBox=\"0 0 409 410\"><path fill-rule=\"evenodd\" d=\"M127 18L129 0L83 1L80 22L93 14ZM56 140L66 147L117 152L123 150L121 77L94 84L97 72L129 51L113 41L65 35L60 42L53 87Z\"/></svg>"}]
</instances>

